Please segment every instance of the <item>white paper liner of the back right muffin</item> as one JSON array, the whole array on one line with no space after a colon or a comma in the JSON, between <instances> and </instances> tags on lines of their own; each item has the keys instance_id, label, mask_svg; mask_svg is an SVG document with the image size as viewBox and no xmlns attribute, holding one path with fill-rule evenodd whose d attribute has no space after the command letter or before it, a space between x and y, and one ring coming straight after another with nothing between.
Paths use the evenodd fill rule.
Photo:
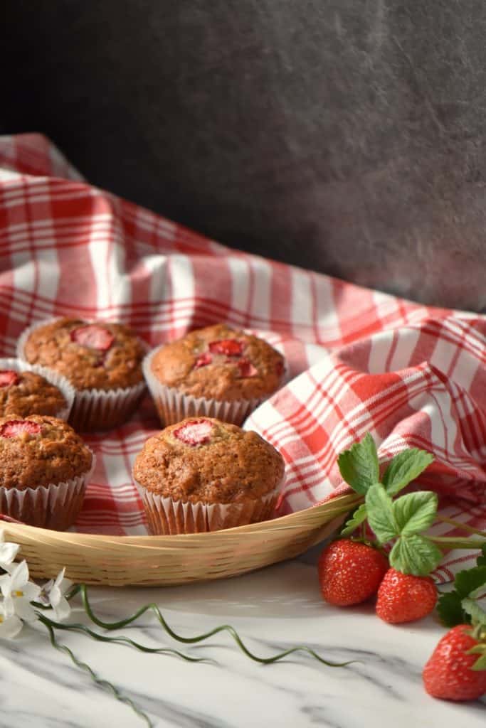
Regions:
<instances>
[{"instance_id":1,"label":"white paper liner of the back right muffin","mask_svg":"<svg viewBox=\"0 0 486 728\"><path fill-rule=\"evenodd\" d=\"M162 344L164 346L164 344ZM160 416L160 422L166 427L169 424L176 424L186 417L214 417L223 422L242 424L246 418L259 405L271 395L255 397L251 400L235 400L226 402L223 400L206 399L206 397L193 397L184 395L175 387L168 387L152 372L152 357L157 354L162 346L152 349L142 363L145 381L149 387L150 394ZM273 394L273 392L272 392Z\"/></svg>"}]
</instances>

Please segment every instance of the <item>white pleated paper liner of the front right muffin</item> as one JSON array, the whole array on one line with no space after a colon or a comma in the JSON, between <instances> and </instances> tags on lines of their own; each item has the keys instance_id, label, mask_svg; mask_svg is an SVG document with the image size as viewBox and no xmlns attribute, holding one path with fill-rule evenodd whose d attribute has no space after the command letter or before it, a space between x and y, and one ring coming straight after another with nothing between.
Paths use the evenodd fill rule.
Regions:
<instances>
[{"instance_id":1,"label":"white pleated paper liner of the front right muffin","mask_svg":"<svg viewBox=\"0 0 486 728\"><path fill-rule=\"evenodd\" d=\"M135 483L144 504L149 533L152 536L173 536L221 531L267 521L275 510L283 480L262 498L240 503L211 504L173 500L147 491L137 481Z\"/></svg>"}]
</instances>

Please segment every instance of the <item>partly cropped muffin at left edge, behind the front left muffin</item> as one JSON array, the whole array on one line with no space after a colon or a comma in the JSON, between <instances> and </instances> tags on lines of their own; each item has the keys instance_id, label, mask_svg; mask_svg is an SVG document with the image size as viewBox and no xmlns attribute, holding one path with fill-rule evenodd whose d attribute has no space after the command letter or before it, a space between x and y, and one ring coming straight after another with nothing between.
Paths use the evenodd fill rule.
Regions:
<instances>
[{"instance_id":1,"label":"partly cropped muffin at left edge, behind the front left muffin","mask_svg":"<svg viewBox=\"0 0 486 728\"><path fill-rule=\"evenodd\" d=\"M68 419L74 389L57 372L20 359L0 359L0 417L47 414Z\"/></svg>"}]
</instances>

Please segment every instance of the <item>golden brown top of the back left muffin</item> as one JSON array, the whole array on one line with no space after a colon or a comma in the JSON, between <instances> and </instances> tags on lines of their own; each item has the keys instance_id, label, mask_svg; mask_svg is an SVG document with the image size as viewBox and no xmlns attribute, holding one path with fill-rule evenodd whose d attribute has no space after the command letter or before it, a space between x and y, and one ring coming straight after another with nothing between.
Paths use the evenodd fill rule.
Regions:
<instances>
[{"instance_id":1,"label":"golden brown top of the back left muffin","mask_svg":"<svg viewBox=\"0 0 486 728\"><path fill-rule=\"evenodd\" d=\"M119 323L61 318L35 328L23 355L63 374L77 389L123 389L144 378L144 345Z\"/></svg>"}]
</instances>

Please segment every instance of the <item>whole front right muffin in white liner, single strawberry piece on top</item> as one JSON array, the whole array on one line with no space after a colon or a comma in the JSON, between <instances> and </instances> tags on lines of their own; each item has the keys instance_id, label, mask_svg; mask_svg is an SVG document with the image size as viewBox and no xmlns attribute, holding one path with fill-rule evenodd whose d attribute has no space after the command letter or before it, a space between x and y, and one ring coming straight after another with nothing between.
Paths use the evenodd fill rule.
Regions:
<instances>
[{"instance_id":1,"label":"whole front right muffin in white liner, single strawberry piece on top","mask_svg":"<svg viewBox=\"0 0 486 728\"><path fill-rule=\"evenodd\" d=\"M265 521L283 472L281 454L256 432L209 417L166 427L146 441L133 466L152 534Z\"/></svg>"}]
</instances>

